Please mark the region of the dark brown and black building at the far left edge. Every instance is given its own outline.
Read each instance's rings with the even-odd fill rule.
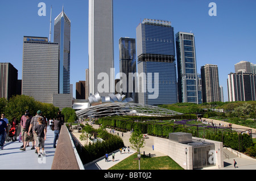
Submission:
[[[18,70],[11,63],[0,63],[0,98],[18,94]]]

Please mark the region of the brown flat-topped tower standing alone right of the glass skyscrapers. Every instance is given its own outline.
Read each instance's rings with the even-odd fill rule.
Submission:
[[[220,102],[221,92],[218,79],[218,66],[206,64],[201,66],[203,102]]]

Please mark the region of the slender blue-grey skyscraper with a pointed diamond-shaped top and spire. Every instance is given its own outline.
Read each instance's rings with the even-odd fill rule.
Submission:
[[[59,94],[70,93],[71,20],[63,10],[54,20],[54,43],[59,44]]]

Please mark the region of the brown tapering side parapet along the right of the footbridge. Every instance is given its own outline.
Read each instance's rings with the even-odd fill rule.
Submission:
[[[61,126],[51,169],[80,170],[66,125]]]

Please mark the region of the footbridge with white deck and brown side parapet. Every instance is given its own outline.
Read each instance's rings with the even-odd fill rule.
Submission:
[[[1,170],[84,170],[84,166],[73,144],[71,134],[63,125],[57,148],[53,148],[54,131],[47,127],[44,150],[46,156],[38,158],[35,150],[30,146],[26,151],[20,150],[22,142],[5,142],[3,150],[0,150]]]

